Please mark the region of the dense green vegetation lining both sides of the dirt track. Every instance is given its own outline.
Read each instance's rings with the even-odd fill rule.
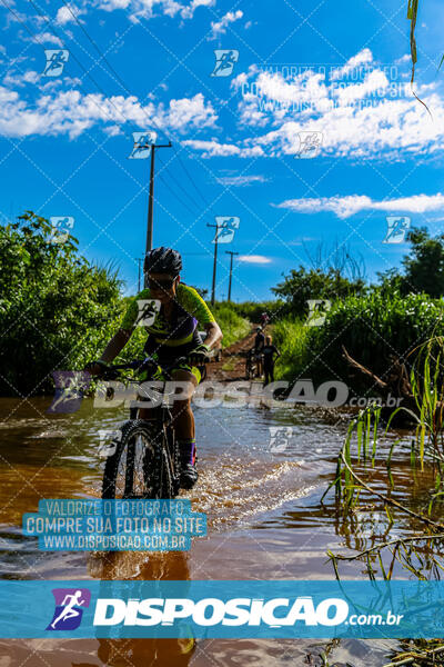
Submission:
[[[41,394],[54,369],[79,369],[97,357],[119,326],[127,298],[115,270],[88,262],[77,240],[52,242],[47,220],[27,212],[0,228],[1,394]],[[367,286],[345,253],[326,265],[300,267],[273,288],[274,301],[216,302],[223,347],[244,337],[263,311],[271,316],[282,352],[276,376],[347,380],[342,346],[376,375],[392,356],[402,360],[432,335],[444,335],[444,237],[425,229],[408,235],[402,270]],[[331,253],[330,253],[331,256]],[[309,299],[329,299],[321,327],[307,327]],[[140,355],[144,332],[135,331],[121,358]]]

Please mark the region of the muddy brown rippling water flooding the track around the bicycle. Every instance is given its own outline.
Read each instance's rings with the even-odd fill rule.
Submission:
[[[333,479],[346,425],[323,421],[303,408],[195,408],[198,486],[188,497],[208,515],[208,536],[193,538],[189,552],[92,555],[41,552],[23,537],[23,512],[41,498],[100,497],[103,460],[98,429],[112,429],[124,409],[94,409],[82,402],[72,415],[48,415],[49,399],[0,399],[0,568],[3,578],[23,579],[332,579],[326,551],[353,554],[372,546],[360,525],[342,521],[333,498],[320,498]],[[331,420],[330,420],[331,421]],[[273,426],[292,426],[282,451],[271,451]],[[377,471],[373,485],[386,489]],[[426,500],[425,480],[412,485],[398,458],[397,492],[417,506]],[[369,507],[369,514],[373,511]],[[364,521],[365,524],[365,521]],[[382,534],[386,527],[383,527]],[[397,530],[400,524],[397,522]],[[411,534],[410,520],[401,530]],[[364,566],[344,564],[344,578],[366,579]],[[403,578],[405,571],[397,573]],[[1,640],[0,667],[149,667],[323,665],[325,641],[62,639]],[[389,663],[390,640],[342,640],[330,665],[380,667]],[[307,655],[312,658],[310,661]]]

